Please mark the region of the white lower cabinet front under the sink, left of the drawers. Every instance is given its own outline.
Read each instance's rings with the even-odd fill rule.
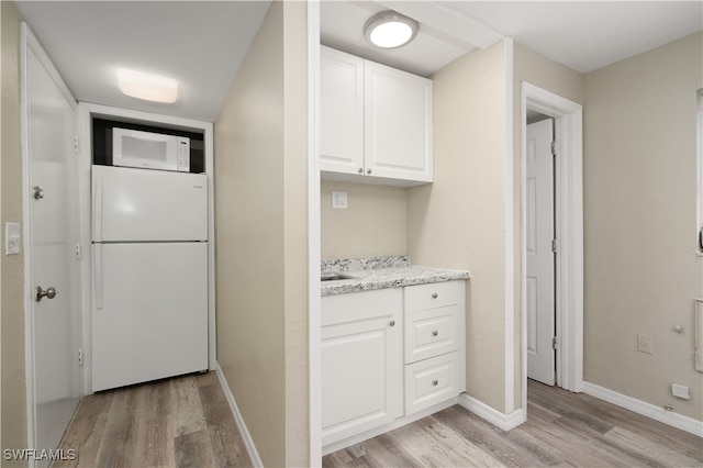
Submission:
[[[402,289],[322,298],[322,444],[403,414]]]

